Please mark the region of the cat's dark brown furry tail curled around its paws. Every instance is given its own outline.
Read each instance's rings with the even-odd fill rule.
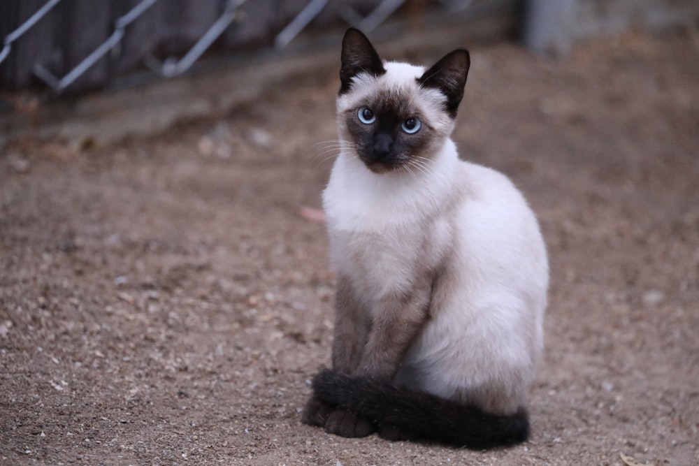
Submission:
[[[370,419],[380,434],[391,439],[487,449],[526,442],[529,437],[524,409],[498,416],[431,393],[331,370],[319,372],[312,386],[317,398]]]

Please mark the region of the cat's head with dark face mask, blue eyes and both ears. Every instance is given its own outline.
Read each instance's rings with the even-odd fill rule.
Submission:
[[[467,50],[430,68],[384,62],[358,29],[343,38],[338,127],[374,173],[431,159],[454,129],[470,66]]]

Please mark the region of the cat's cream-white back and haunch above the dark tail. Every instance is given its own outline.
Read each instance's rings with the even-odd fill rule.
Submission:
[[[460,286],[433,312],[398,377],[445,398],[514,412],[526,405],[543,347],[545,246],[533,213],[504,175],[466,162],[459,172],[473,189],[456,222],[460,247],[452,261],[461,268]],[[472,395],[484,389],[500,395]]]

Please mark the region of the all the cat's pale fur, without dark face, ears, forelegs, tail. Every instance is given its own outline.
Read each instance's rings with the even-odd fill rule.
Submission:
[[[373,173],[352,150],[339,154],[323,194],[333,266],[372,308],[408,289],[418,266],[436,268],[448,254],[453,291],[433,302],[432,318],[396,379],[513,412],[526,405],[543,344],[549,272],[538,223],[507,177],[459,161],[448,138],[452,119],[440,110],[443,96],[415,82],[423,68],[386,68],[380,78],[360,75],[352,92],[338,98],[338,115],[377,89],[403,92],[420,99],[444,142],[428,169],[412,174]],[[346,137],[342,120],[340,137]]]

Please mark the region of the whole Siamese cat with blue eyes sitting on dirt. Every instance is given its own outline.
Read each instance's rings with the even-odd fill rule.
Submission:
[[[313,379],[305,423],[473,449],[528,439],[547,254],[512,182],[449,138],[469,66],[466,50],[427,69],[384,62],[345,33],[323,193],[333,369]]]

